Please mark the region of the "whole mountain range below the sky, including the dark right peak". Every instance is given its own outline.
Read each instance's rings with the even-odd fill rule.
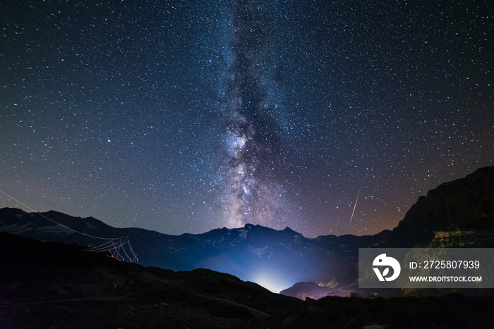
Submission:
[[[173,271],[207,268],[302,299],[348,296],[358,291],[359,248],[494,247],[494,166],[430,190],[418,198],[396,228],[376,235],[307,238],[290,228],[273,230],[251,224],[197,235],[166,235],[140,228],[113,228],[92,217],[10,208],[0,209],[0,232],[93,247],[102,244],[95,237],[115,237],[104,240],[110,243],[128,237],[143,266]]]

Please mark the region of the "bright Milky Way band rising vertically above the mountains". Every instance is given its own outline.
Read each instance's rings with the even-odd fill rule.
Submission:
[[[282,185],[277,182],[282,145],[277,104],[267,85],[274,33],[267,24],[264,1],[238,1],[232,8],[225,123],[227,170],[225,215],[229,226],[255,222],[278,226],[288,213],[283,209]]]

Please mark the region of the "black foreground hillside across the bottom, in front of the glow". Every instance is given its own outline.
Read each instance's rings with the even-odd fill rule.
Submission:
[[[491,328],[494,297],[301,301],[232,275],[174,272],[0,233],[0,328]]]

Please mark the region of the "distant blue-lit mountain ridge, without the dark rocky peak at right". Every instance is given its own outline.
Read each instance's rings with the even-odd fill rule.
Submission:
[[[337,249],[353,244],[346,242],[348,239],[358,239],[352,235],[343,237],[345,241],[340,241],[335,235],[307,238],[291,228],[275,230],[253,224],[246,224],[243,228],[218,228],[198,235],[167,235],[140,228],[112,228],[92,217],[73,218],[57,211],[26,213],[20,209],[0,209],[0,231],[56,242],[95,244],[90,237],[58,229],[56,224],[44,218],[48,216],[88,235],[128,236],[139,263],[144,266],[174,271],[210,268],[231,273],[242,280],[262,282],[272,286],[274,291],[299,280],[326,280],[328,274],[335,272],[334,264],[341,265],[346,258]],[[11,218],[10,221],[7,218]],[[343,254],[357,256],[356,250],[347,250]],[[327,257],[332,261],[323,260]],[[258,273],[253,273],[253,268]],[[286,271],[292,274],[293,279],[284,278]],[[311,271],[314,274],[308,275]],[[266,282],[279,280],[283,282],[278,283],[279,288],[275,283]]]

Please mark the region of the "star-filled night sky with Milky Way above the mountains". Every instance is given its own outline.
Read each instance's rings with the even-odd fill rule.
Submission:
[[[493,54],[491,0],[1,0],[0,207],[392,229],[494,165]]]

